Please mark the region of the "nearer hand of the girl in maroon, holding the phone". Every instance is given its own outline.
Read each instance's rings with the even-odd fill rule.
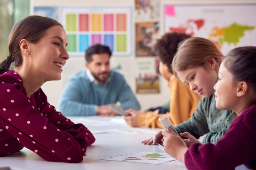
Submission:
[[[184,162],[184,153],[188,149],[186,143],[169,127],[167,131],[163,131],[162,134],[164,151],[173,158],[179,158],[179,161]]]

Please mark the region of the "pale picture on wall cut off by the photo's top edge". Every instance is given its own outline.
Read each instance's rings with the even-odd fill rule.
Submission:
[[[160,0],[134,0],[135,21],[159,21]]]

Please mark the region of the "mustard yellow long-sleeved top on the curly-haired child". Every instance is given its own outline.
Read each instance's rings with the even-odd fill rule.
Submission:
[[[189,85],[185,85],[174,75],[172,75],[170,82],[170,113],[167,113],[168,118],[174,126],[189,119],[194,113],[201,95],[190,90]],[[153,114],[153,112],[140,113],[139,126],[147,126],[151,128],[163,128],[159,122],[159,118],[163,114]]]

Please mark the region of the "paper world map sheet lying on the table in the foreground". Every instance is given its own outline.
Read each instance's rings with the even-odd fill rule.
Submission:
[[[129,153],[126,155],[105,158],[101,160],[134,162],[134,163],[144,163],[144,164],[162,164],[164,162],[174,161],[176,159],[172,158],[167,153],[138,152],[138,153]]]

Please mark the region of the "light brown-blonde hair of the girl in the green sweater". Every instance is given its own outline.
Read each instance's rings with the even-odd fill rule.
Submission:
[[[176,71],[184,71],[188,68],[203,66],[208,59],[214,58],[218,71],[224,55],[211,40],[201,37],[191,37],[180,43],[178,51],[172,61],[172,71],[177,77]]]

